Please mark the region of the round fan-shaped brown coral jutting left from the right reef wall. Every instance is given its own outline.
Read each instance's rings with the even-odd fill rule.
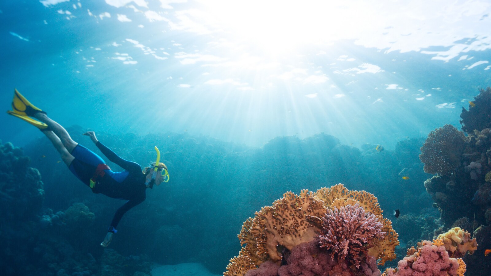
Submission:
[[[424,171],[439,175],[451,173],[461,162],[464,139],[464,133],[452,125],[430,132],[419,155]]]

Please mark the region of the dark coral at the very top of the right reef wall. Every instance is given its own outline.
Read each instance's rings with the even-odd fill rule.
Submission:
[[[491,128],[491,87],[480,89],[473,103],[474,106],[469,107],[469,110],[462,108],[460,122],[466,133]]]

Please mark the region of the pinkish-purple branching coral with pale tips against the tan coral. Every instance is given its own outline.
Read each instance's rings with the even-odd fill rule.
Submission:
[[[356,268],[360,267],[360,255],[366,255],[368,248],[385,234],[377,217],[365,212],[358,203],[328,210],[322,219],[320,247],[326,249],[333,259],[347,259]]]

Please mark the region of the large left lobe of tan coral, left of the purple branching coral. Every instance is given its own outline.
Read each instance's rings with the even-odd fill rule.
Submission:
[[[324,202],[308,190],[300,191],[299,195],[284,193],[272,206],[261,208],[254,218],[244,222],[238,235],[244,247],[239,256],[230,260],[224,275],[241,276],[267,259],[280,261],[282,257],[276,247],[282,245],[291,250],[313,240],[325,213]]]

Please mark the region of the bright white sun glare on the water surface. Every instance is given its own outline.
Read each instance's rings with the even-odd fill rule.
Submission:
[[[370,7],[326,0],[203,1],[209,20],[230,39],[267,54],[350,39],[368,28]]]

